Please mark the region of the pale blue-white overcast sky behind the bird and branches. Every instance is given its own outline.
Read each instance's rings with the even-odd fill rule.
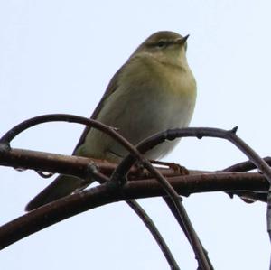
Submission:
[[[203,4],[204,3],[204,4]],[[159,30],[190,34],[197,79],[192,126],[229,129],[270,154],[270,1],[0,1],[0,133],[47,113],[90,116],[109,79],[140,42]],[[46,124],[14,147],[70,154],[82,126]],[[183,139],[166,161],[219,170],[246,160],[221,140]],[[47,185],[35,172],[0,167],[0,222],[23,214]],[[140,200],[182,269],[192,249],[160,199]],[[224,193],[184,200],[216,269],[267,269],[266,205]],[[94,209],[0,252],[1,269],[167,269],[154,239],[125,203]]]

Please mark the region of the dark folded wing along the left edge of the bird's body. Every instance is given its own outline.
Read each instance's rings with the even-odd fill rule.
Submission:
[[[123,67],[124,66],[122,66],[119,70],[117,70],[117,72],[115,73],[113,78],[109,81],[106,92],[104,93],[103,97],[100,99],[98,106],[95,108],[92,116],[90,116],[91,119],[97,119],[98,114],[99,114],[101,108],[103,107],[105,101],[107,100],[107,98],[117,90],[118,77],[119,77],[121,71],[123,70]],[[82,135],[80,136],[79,142],[76,145],[75,149],[73,150],[72,154],[75,154],[75,152],[79,148],[79,146],[81,144],[84,144],[86,136],[88,135],[90,129],[91,129],[91,126],[86,126],[86,128],[84,129]]]

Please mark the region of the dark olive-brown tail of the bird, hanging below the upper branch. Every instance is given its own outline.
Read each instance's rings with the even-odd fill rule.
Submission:
[[[80,188],[82,184],[83,181],[77,177],[59,175],[48,187],[26,205],[25,210],[31,211],[53,200],[70,195],[70,193]]]

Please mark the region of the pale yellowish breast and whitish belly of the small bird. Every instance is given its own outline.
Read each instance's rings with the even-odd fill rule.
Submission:
[[[188,126],[195,98],[196,85],[189,68],[178,69],[145,60],[132,61],[117,78],[117,89],[103,103],[97,120],[117,127],[127,140],[138,144],[155,133]],[[87,135],[85,144],[89,146],[81,147],[82,155],[113,161],[126,155],[123,146],[94,129]],[[155,147],[147,157],[160,158],[175,144],[177,141],[165,142]]]

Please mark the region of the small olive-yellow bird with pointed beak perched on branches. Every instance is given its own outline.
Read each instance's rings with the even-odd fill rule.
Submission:
[[[153,33],[117,70],[91,118],[117,127],[130,143],[189,125],[196,101],[196,81],[187,60],[187,39],[178,33]],[[178,140],[164,142],[145,154],[155,160],[170,153]],[[86,127],[73,155],[119,163],[126,149],[94,128]],[[59,175],[26,206],[36,209],[82,186],[74,176]]]

